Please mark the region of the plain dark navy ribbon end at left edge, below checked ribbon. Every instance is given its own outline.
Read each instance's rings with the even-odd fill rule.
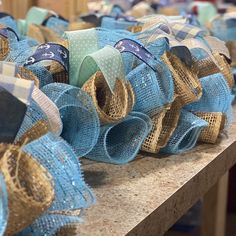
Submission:
[[[0,87],[0,143],[13,143],[24,120],[27,106]]]

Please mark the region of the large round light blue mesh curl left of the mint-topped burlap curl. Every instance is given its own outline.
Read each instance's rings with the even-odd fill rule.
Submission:
[[[84,156],[97,143],[100,131],[99,118],[91,98],[80,88],[52,83],[42,91],[59,109],[62,137],[72,145],[78,156]]]

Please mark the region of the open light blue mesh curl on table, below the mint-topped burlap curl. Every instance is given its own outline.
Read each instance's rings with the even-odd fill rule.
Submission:
[[[112,164],[126,164],[138,154],[152,128],[151,119],[133,113],[123,121],[101,127],[98,143],[87,158]]]

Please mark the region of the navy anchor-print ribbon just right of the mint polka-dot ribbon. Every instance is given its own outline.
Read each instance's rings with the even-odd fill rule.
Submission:
[[[129,52],[135,55],[138,59],[146,63],[154,71],[157,71],[156,66],[158,59],[149,52],[144,46],[131,39],[122,39],[118,41],[115,48],[122,52]]]

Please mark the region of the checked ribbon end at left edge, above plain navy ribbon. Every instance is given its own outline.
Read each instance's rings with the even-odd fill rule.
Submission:
[[[0,87],[7,90],[26,105],[30,104],[34,82],[11,76],[0,76]]]

